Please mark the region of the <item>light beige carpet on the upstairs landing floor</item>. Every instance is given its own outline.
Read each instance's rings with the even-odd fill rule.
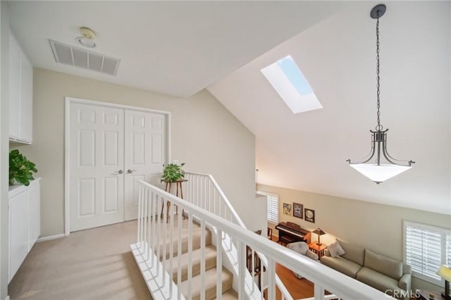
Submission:
[[[152,299],[130,244],[136,221],[36,243],[8,285],[11,299]]]

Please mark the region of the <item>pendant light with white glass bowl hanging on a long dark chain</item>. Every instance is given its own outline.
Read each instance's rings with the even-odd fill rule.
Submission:
[[[361,163],[347,161],[350,166],[359,171],[369,179],[373,180],[377,184],[388,180],[389,178],[396,176],[409,168],[412,168],[414,161],[400,161],[388,154],[387,151],[387,132],[388,129],[383,130],[381,125],[381,111],[380,111],[380,82],[379,82],[379,18],[385,13],[386,7],[384,4],[374,6],[371,10],[370,16],[373,19],[377,19],[376,22],[376,78],[377,78],[377,125],[376,131],[371,132],[371,151],[367,158]],[[376,160],[372,161],[372,158],[376,156]],[[384,161],[382,161],[384,160]]]

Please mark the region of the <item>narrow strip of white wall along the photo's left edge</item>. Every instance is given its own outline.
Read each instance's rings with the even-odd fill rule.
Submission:
[[[8,296],[8,137],[9,20],[8,4],[0,1],[0,299]]]

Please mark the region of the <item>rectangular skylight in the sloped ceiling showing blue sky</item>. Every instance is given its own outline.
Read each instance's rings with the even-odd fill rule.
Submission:
[[[323,108],[291,56],[261,69],[293,113]]]

